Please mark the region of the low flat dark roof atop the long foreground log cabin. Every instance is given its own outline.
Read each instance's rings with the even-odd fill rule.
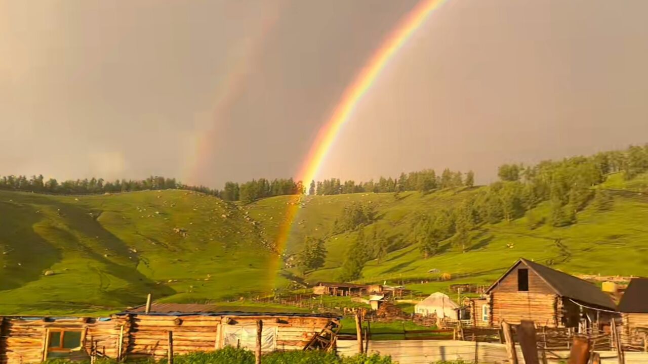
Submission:
[[[187,316],[187,315],[205,315],[205,316],[292,316],[292,317],[325,317],[335,318],[337,315],[330,315],[329,313],[297,313],[297,312],[241,312],[234,310],[226,310],[227,307],[218,306],[216,304],[187,304],[187,303],[153,303],[148,313],[146,312],[146,305],[129,308],[124,312],[117,313],[117,315],[126,314],[146,314],[157,316]],[[255,308],[256,309],[256,308]],[[259,307],[259,310],[263,308]]]

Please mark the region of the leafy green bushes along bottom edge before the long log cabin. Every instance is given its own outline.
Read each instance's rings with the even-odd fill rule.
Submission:
[[[129,361],[130,363],[141,364],[167,364],[167,359],[159,361]],[[66,359],[50,359],[46,364],[87,364],[88,361],[68,361]],[[111,359],[97,359],[97,364],[116,364]],[[323,351],[286,351],[272,352],[265,354],[263,364],[396,364],[391,358],[373,354],[364,354],[352,357],[340,358],[336,354]],[[254,364],[254,353],[246,349],[232,347],[222,348],[213,352],[194,352],[191,354],[178,355],[174,358],[174,364]]]

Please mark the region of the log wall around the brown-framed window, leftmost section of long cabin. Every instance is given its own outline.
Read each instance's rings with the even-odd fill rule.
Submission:
[[[121,327],[128,330],[128,320],[124,317],[113,317],[109,321],[95,319],[23,319],[5,317],[4,350],[0,363],[40,363],[43,350],[46,350],[45,334],[49,330],[70,330],[81,332],[83,345],[90,348],[94,342],[100,352],[106,356],[117,357],[119,333]],[[92,339],[92,341],[91,341]]]

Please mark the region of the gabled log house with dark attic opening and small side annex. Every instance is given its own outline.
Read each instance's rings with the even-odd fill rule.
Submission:
[[[596,285],[524,258],[473,306],[476,326],[484,326],[486,319],[489,326],[530,320],[538,326],[582,331],[618,316],[610,296]]]

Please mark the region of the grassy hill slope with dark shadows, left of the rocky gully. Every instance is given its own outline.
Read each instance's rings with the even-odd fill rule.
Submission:
[[[0,192],[0,222],[2,312],[237,298],[274,255],[236,207],[183,190]]]

